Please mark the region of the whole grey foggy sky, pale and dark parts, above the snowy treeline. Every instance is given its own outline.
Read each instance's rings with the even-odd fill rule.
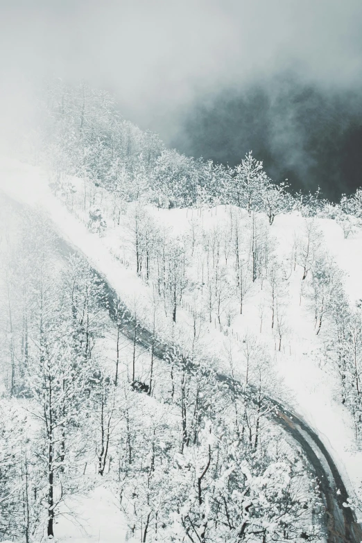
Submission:
[[[28,89],[53,74],[110,90],[124,117],[185,153],[234,163],[254,148],[270,175],[307,187],[325,175],[335,132],[347,155],[323,188],[333,196],[362,178],[348,154],[361,141],[359,0],[0,5],[3,125],[26,117]],[[309,127],[319,142],[329,131],[320,150]]]

